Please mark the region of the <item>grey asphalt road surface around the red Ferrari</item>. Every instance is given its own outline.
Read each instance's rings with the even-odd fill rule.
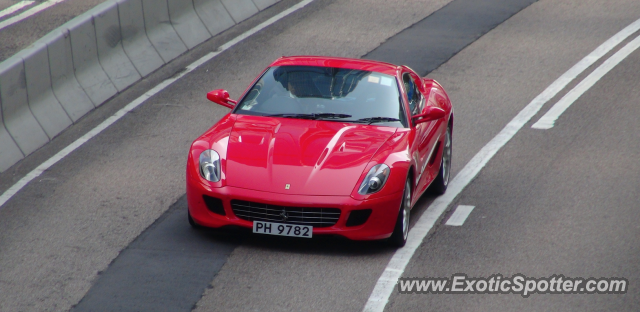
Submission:
[[[295,3],[285,0],[260,13],[104,104],[0,174],[0,191],[149,88]],[[184,204],[186,153],[228,112],[208,102],[206,92],[226,88],[237,97],[281,55],[370,57],[384,42],[402,45],[403,30],[428,24],[438,10],[451,8],[447,4],[316,0],[152,97],[0,207],[0,311],[362,310],[393,249],[376,242],[192,231]],[[428,76],[454,103],[453,175],[555,79],[639,17],[634,0],[540,0],[451,53]],[[420,54],[409,46],[406,53]],[[639,310],[639,60],[640,53],[632,53],[554,128],[531,129],[602,61],[549,101],[451,205],[476,207],[466,222],[444,225],[448,212],[403,274],[615,276],[629,279],[627,294],[394,292],[387,310]],[[431,65],[414,66],[429,71]],[[433,199],[422,198],[413,215]],[[132,272],[147,278],[132,278]]]

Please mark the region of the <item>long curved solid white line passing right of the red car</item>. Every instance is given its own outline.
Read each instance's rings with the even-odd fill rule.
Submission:
[[[409,231],[407,244],[398,249],[371,292],[371,296],[364,306],[365,312],[382,312],[389,301],[391,293],[395,289],[398,278],[404,272],[411,257],[424,238],[427,236],[433,225],[446,211],[458,194],[475,178],[480,170],[491,160],[491,158],[502,148],[511,138],[527,123],[540,108],[552,99],[558,92],[567,86],[585,69],[595,63],[608,51],[622,42],[625,38],[636,32],[640,28],[640,19],[618,32],[615,36],[605,41],[589,55],[576,63],[567,72],[562,74],[556,81],[549,85],[542,93],[536,96],[531,103],[523,108],[489,143],[487,143],[473,158],[462,168],[456,177],[449,183],[447,192],[436,198],[427,210],[422,214],[418,222]],[[635,30],[634,30],[635,29]]]

